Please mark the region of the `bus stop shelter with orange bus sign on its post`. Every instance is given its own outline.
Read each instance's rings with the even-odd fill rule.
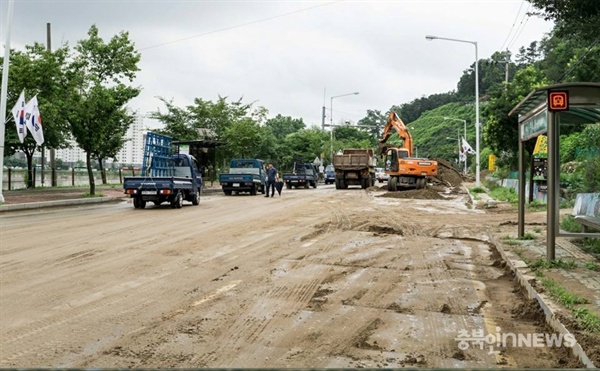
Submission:
[[[568,233],[560,223],[560,127],[600,122],[600,84],[566,83],[533,90],[509,113],[519,115],[519,223],[518,236],[525,234],[525,172],[523,143],[547,135],[546,258],[555,259],[557,237],[596,237],[600,233]],[[600,144],[599,144],[600,145]],[[533,176],[533,174],[531,174]]]

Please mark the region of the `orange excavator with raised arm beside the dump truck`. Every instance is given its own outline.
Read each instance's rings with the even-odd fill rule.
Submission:
[[[386,144],[393,131],[402,139],[402,147]],[[399,188],[425,188],[428,178],[437,175],[437,161],[412,157],[412,136],[396,112],[390,112],[379,140],[379,153],[385,156],[385,173],[390,176],[388,191]]]

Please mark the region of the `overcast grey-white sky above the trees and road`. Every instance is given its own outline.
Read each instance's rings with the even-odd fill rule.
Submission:
[[[157,96],[186,106],[220,95],[320,126],[338,95],[359,92],[333,99],[336,123],[456,89],[474,46],[425,35],[477,41],[480,58],[516,53],[552,28],[528,9],[524,0],[16,0],[11,48],[45,43],[47,23],[55,48],[92,24],[105,41],[127,31],[142,54],[143,91],[131,102],[141,114],[164,110]]]

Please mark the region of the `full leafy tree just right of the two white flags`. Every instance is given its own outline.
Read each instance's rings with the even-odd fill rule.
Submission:
[[[86,152],[90,195],[95,195],[92,159],[110,155],[118,143],[106,138],[124,133],[132,122],[133,113],[125,105],[139,95],[140,89],[126,83],[132,82],[139,71],[140,53],[127,32],[105,43],[95,25],[75,50],[70,66],[75,87],[70,92],[67,117],[77,144]]]

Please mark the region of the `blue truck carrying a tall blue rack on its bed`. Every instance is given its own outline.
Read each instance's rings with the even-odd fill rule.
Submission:
[[[133,207],[144,209],[148,202],[168,202],[180,209],[183,201],[200,204],[202,177],[196,159],[189,154],[171,154],[171,138],[146,134],[142,175],[123,178],[125,194],[133,199]]]

